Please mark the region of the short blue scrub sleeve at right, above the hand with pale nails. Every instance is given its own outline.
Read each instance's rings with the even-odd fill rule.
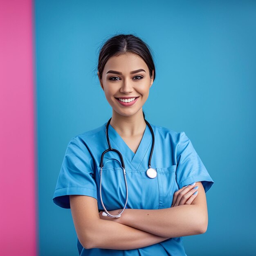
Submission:
[[[177,145],[176,180],[179,189],[193,182],[201,181],[205,193],[214,183],[185,132],[180,132]]]

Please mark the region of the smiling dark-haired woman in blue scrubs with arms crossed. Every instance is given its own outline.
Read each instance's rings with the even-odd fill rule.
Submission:
[[[70,140],[53,197],[71,208],[79,254],[186,255],[182,236],[207,230],[205,193],[213,180],[184,132],[145,120],[155,80],[150,48],[131,34],[113,36],[101,48],[98,76],[112,117]],[[103,155],[101,170],[106,128],[125,176],[115,151]]]

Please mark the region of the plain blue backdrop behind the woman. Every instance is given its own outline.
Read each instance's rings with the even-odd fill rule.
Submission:
[[[52,196],[67,143],[111,117],[95,68],[115,33],[152,47],[146,119],[186,132],[215,182],[207,232],[184,237],[186,253],[255,254],[256,2],[36,0],[40,255],[78,255]]]

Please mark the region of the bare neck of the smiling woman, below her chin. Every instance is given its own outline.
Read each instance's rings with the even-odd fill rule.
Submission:
[[[122,136],[132,137],[140,135],[146,129],[146,122],[143,117],[142,108],[129,117],[120,115],[116,111],[112,111],[111,126]]]

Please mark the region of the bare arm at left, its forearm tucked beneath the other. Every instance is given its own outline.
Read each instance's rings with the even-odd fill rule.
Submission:
[[[70,208],[76,234],[87,249],[137,249],[168,239],[118,223],[118,218],[101,220],[97,200],[90,196],[70,195]]]

